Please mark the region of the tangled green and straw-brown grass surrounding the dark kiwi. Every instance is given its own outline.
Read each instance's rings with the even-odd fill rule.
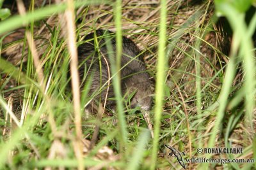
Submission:
[[[37,7],[36,2],[31,1],[26,14],[0,22],[0,169],[182,169],[165,144],[186,153],[183,159],[256,159],[256,15],[245,22],[246,3],[69,1]],[[65,18],[72,10],[76,18]],[[232,38],[218,27],[214,14],[227,18]],[[25,31],[14,34],[19,27]],[[116,113],[84,114],[92,82],[85,82],[79,93],[74,41],[81,43],[95,29],[116,32],[117,59],[122,35],[140,47],[154,89],[154,139],[143,114],[123,102],[120,60],[112,61],[110,70],[115,74]],[[228,55],[223,46],[230,46]],[[197,153],[198,147],[238,147],[243,153]],[[186,162],[187,169],[255,166]]]

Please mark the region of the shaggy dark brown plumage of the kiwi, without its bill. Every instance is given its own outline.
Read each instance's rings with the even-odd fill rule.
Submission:
[[[95,42],[97,38],[97,43]],[[90,94],[100,89],[100,76],[101,76],[101,86],[103,86],[112,74],[108,74],[108,70],[111,73],[111,60],[115,62],[116,60],[116,41],[115,33],[104,30],[97,30],[88,34],[85,39],[85,43],[78,46],[78,56],[79,56],[79,76],[81,79],[81,88],[83,89],[84,82],[88,80],[90,75],[92,78],[92,86]],[[107,43],[110,41],[113,53],[112,55],[108,52]],[[99,48],[97,48],[99,46]],[[106,59],[106,60],[105,60]],[[101,65],[101,67],[100,67]],[[148,110],[151,105],[152,93],[150,89],[150,80],[148,73],[146,72],[145,62],[143,57],[140,55],[140,50],[131,39],[122,38],[122,58],[121,58],[121,89],[122,94],[131,93],[136,91],[132,97],[131,106],[141,106],[141,108]],[[101,70],[101,71],[100,71]],[[101,73],[101,74],[100,74]],[[87,76],[84,76],[87,75]],[[83,77],[86,77],[83,81]],[[110,81],[111,83],[111,81]],[[108,83],[102,88],[100,95],[95,97],[101,101],[106,98],[106,87]],[[108,90],[108,98],[115,97],[112,85],[110,85]],[[115,105],[115,100],[108,100],[107,105],[109,107]]]

